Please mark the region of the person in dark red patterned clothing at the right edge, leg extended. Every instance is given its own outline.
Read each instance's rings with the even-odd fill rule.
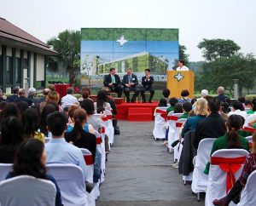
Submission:
[[[240,178],[236,180],[235,185],[230,189],[230,192],[220,199],[213,201],[214,205],[228,206],[231,201],[234,203],[240,202],[240,194],[242,188],[247,184],[248,176],[256,169],[256,132],[253,133],[253,151],[247,155],[247,159],[243,165]]]

